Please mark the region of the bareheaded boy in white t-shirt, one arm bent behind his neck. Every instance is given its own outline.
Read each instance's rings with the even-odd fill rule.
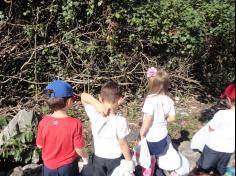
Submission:
[[[81,95],[81,100],[89,116],[94,139],[93,176],[111,176],[120,165],[122,154],[127,171],[133,172],[126,139],[130,130],[127,120],[117,112],[122,102],[119,85],[113,81],[107,82],[101,89],[99,101],[87,93]]]

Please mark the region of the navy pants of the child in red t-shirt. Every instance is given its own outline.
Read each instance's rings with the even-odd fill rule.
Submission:
[[[79,176],[78,161],[64,165],[58,169],[51,170],[46,166],[43,167],[43,176]]]

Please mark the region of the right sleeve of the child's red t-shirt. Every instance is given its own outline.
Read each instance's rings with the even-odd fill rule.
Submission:
[[[84,146],[85,142],[84,142],[83,126],[80,120],[78,120],[74,132],[74,148],[82,149],[84,148]]]

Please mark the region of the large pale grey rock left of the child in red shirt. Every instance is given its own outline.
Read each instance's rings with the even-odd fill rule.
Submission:
[[[38,123],[38,120],[32,111],[21,110],[0,133],[0,146],[4,141],[24,132],[25,129]]]

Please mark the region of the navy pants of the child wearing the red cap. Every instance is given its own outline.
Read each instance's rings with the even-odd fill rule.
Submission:
[[[230,153],[216,152],[205,146],[197,165],[199,170],[214,171],[216,174],[224,175],[231,155]]]

